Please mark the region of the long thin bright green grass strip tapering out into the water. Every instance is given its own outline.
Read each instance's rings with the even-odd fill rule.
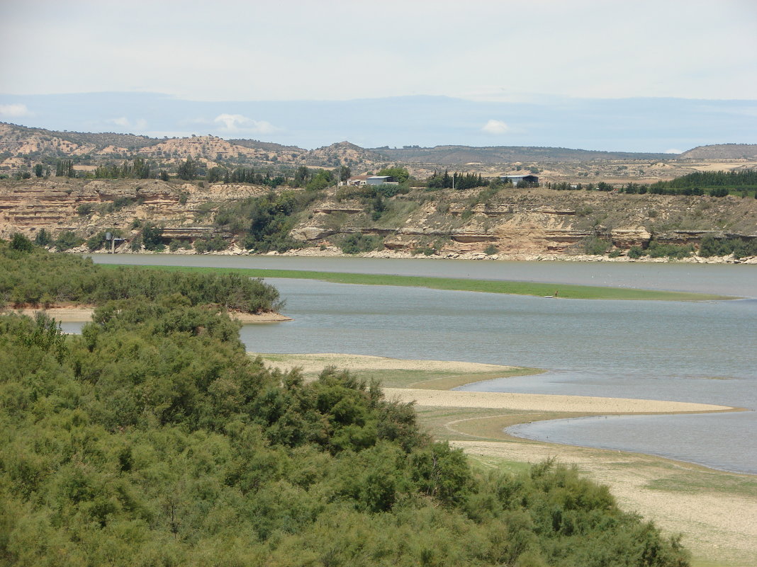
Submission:
[[[110,268],[117,265],[100,264]],[[128,266],[123,266],[128,267]],[[321,280],[331,283],[351,283],[367,286],[428,287],[432,290],[478,291],[511,293],[519,296],[551,296],[558,291],[563,299],[643,299],[646,301],[711,301],[737,299],[732,296],[685,293],[677,291],[637,290],[625,287],[578,286],[566,283],[537,283],[529,281],[470,280],[462,277],[400,276],[390,274],[350,274],[330,271],[266,270],[259,268],[210,268],[199,266],[154,266],[139,268],[182,270],[216,273],[235,273],[249,277],[286,277],[298,280]]]

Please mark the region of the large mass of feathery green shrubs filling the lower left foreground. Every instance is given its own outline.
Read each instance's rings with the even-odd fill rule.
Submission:
[[[575,469],[472,469],[376,383],[268,370],[150,295],[80,336],[0,316],[0,565],[688,565]]]

